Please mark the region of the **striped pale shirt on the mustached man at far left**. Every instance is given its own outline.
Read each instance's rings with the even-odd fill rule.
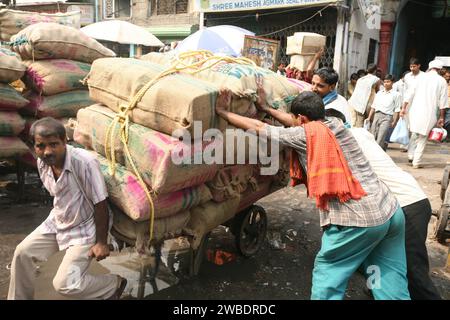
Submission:
[[[108,197],[97,159],[86,150],[67,145],[64,167],[57,181],[52,168],[40,159],[38,170],[42,183],[54,197],[53,209],[39,226],[39,231],[42,234],[56,234],[60,250],[72,245],[94,244],[96,230],[93,205]]]

